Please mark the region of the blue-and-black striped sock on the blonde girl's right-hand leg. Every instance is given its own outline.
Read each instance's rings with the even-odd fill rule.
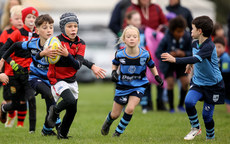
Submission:
[[[120,123],[118,124],[118,126],[116,128],[116,132],[118,132],[120,134],[124,133],[124,130],[128,126],[132,116],[133,115],[129,115],[129,114],[124,112],[124,115],[121,118]]]

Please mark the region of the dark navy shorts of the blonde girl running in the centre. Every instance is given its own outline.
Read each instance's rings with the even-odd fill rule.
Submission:
[[[116,103],[118,103],[118,104],[120,104],[120,105],[126,105],[127,103],[128,103],[128,101],[129,101],[129,96],[136,96],[136,97],[138,97],[138,98],[142,98],[143,96],[144,96],[144,94],[142,94],[142,93],[137,93],[136,91],[134,91],[134,92],[132,92],[132,93],[130,93],[130,94],[128,94],[128,95],[124,95],[124,96],[115,96],[114,97],[114,101],[116,102]]]

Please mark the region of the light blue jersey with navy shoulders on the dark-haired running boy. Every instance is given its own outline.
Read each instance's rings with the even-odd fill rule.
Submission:
[[[193,82],[198,86],[212,86],[223,78],[218,66],[218,58],[215,44],[211,38],[205,40],[200,46],[198,41],[192,45],[193,56],[199,59],[194,64]]]

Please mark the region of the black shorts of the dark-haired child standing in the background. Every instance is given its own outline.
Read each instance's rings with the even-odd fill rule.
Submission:
[[[185,73],[186,64],[169,64],[169,68],[166,73],[164,73],[165,78],[173,77],[174,72],[176,73],[176,78],[180,78],[182,76],[187,76]]]

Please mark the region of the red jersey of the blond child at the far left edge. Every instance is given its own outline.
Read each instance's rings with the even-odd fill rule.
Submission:
[[[0,36],[0,49],[6,43],[7,39],[11,35],[11,33],[14,32],[15,30],[17,30],[17,28],[12,26],[10,29],[4,30],[2,32],[2,34]],[[12,53],[10,56],[13,57],[14,53]],[[14,75],[11,66],[7,62],[4,63],[4,73],[6,75],[8,75],[8,76],[13,76]]]

